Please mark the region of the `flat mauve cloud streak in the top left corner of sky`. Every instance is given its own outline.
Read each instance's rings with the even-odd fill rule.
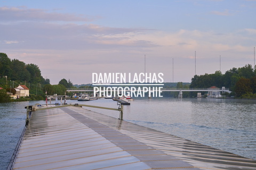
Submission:
[[[0,21],[92,21],[94,17],[27,7],[0,7]]]

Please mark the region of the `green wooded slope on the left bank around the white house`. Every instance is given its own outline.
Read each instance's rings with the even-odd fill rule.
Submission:
[[[51,85],[50,79],[44,79],[36,64],[26,64],[17,59],[11,60],[5,53],[0,53],[0,103],[11,101],[6,92],[15,92],[13,88],[25,84],[29,88],[28,99],[42,100],[45,95],[65,95],[66,88],[73,88],[70,80],[61,79]],[[27,99],[27,100],[28,100]]]

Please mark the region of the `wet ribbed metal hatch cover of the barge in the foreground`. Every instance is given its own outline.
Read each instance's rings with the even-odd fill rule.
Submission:
[[[13,169],[256,169],[256,161],[80,107],[36,111]]]

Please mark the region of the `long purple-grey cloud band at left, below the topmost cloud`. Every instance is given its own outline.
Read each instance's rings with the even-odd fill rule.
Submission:
[[[149,31],[141,28],[110,28],[95,24],[75,23],[20,22],[0,23],[0,31],[2,32],[1,39],[6,40],[8,44],[24,42],[12,48],[87,50],[156,46],[151,41],[136,38],[137,35]],[[12,41],[13,39],[15,41]]]

